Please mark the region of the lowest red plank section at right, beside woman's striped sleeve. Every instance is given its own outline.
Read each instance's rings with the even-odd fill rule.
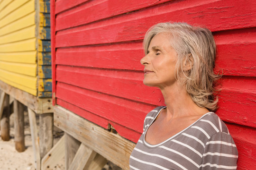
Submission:
[[[238,148],[238,170],[256,170],[256,129],[226,124]]]

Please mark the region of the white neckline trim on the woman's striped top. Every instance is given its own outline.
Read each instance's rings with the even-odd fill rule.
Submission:
[[[146,144],[146,146],[148,146],[148,147],[157,147],[157,146],[160,146],[160,145],[162,145],[162,144],[168,142],[169,140],[173,139],[175,136],[178,136],[179,134],[183,133],[183,132],[184,132],[186,129],[188,129],[189,127],[192,127],[195,123],[197,123],[197,122],[198,122],[200,119],[202,119],[204,116],[206,116],[206,115],[208,115],[208,114],[210,114],[210,113],[214,113],[214,112],[211,112],[211,111],[205,113],[204,115],[201,116],[201,118],[197,119],[197,120],[196,120],[194,123],[192,123],[190,126],[184,128],[182,131],[176,133],[174,136],[169,137],[168,139],[166,139],[165,141],[163,141],[163,142],[161,142],[161,143],[159,143],[159,144],[149,144],[149,143],[146,142],[146,139],[145,139],[145,138],[146,138],[147,129],[153,124],[153,122],[155,121],[156,117],[157,117],[158,114],[161,112],[161,110],[162,110],[162,109],[165,109],[165,108],[166,108],[166,106],[164,106],[163,108],[161,108],[161,109],[157,112],[157,114],[155,115],[155,118],[151,121],[150,125],[146,128],[146,131],[145,131],[144,136],[143,136],[143,143]]]

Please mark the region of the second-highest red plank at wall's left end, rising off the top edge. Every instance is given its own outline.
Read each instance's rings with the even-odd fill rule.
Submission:
[[[171,0],[92,0],[56,16],[56,30],[71,28]],[[61,5],[63,4],[56,4]],[[72,6],[73,7],[73,6]],[[68,9],[65,7],[65,9]],[[57,10],[57,9],[56,9]],[[100,12],[99,12],[100,11]],[[83,16],[83,17],[81,17]],[[75,21],[75,22],[73,22]]]

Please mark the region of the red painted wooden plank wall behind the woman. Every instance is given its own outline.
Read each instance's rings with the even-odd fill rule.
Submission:
[[[147,112],[164,105],[142,82],[146,31],[168,21],[208,27],[224,70],[217,114],[238,169],[256,169],[255,0],[51,0],[51,15],[54,104],[134,142]]]

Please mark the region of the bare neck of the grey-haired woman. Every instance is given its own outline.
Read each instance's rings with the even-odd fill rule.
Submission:
[[[190,94],[178,83],[160,90],[165,98],[166,119],[203,115],[209,112],[206,108],[201,108],[193,102]]]

